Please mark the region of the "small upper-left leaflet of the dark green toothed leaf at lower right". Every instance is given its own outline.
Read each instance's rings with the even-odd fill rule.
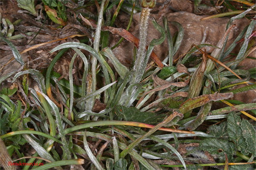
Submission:
[[[228,139],[227,134],[227,122],[223,122],[220,125],[212,125],[208,129],[208,133],[218,139]]]

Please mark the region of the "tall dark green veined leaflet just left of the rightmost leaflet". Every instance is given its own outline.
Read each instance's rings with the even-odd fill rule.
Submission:
[[[235,112],[229,113],[227,116],[227,133],[229,135],[229,139],[236,144],[237,149],[241,150],[242,154],[248,155],[248,145],[242,136],[242,131],[240,117],[237,116]]]

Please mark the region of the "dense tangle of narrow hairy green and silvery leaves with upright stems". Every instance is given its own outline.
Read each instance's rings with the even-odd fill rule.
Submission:
[[[91,2],[84,1],[77,4],[70,2],[71,5],[61,1],[45,3],[58,12],[70,8],[71,5],[76,6],[77,11],[92,5]],[[124,7],[135,8],[135,4],[131,6],[123,1],[99,3],[96,1],[99,12],[93,43],[89,43],[89,39],[83,39],[53,48],[50,52],[58,51],[58,54],[46,74],[25,68],[0,78],[2,83],[15,74],[12,81],[19,84],[18,88],[3,88],[0,94],[1,139],[6,145],[9,157],[18,156],[18,161],[22,163],[36,161],[37,164],[44,164],[33,165],[35,169],[61,169],[61,166],[70,164],[81,164],[86,169],[115,170],[154,170],[165,167],[189,169],[191,166],[222,169],[222,165],[226,169],[228,166],[230,169],[255,168],[256,131],[251,122],[255,121],[256,105],[228,99],[233,94],[256,88],[255,83],[250,82],[251,78],[255,79],[255,69],[246,71],[237,68],[255,48],[250,45],[252,39],[249,37],[253,36],[256,21],[251,20],[250,25],[241,31],[226,51],[224,50],[233,20],[244,17],[249,9],[230,19],[226,33],[218,42],[218,48],[211,54],[201,51],[200,48],[212,45],[201,44],[192,48],[179,63],[174,63],[173,56],[183,39],[183,27],[179,23],[171,23],[179,30],[177,37],[174,37],[166,17],[163,17],[163,26],[153,19],[152,22],[161,36],[158,40],[152,40],[146,49],[148,16],[155,1],[143,0],[139,49],[134,67],[126,68],[116,59],[111,48],[107,47],[109,32],[102,33],[102,27],[108,23],[104,20],[107,9],[119,4],[110,22],[113,26],[119,10]],[[61,16],[65,17],[60,13],[58,17]],[[95,19],[95,16],[91,15],[91,18]],[[224,65],[224,58],[243,36],[244,42],[236,59]],[[163,43],[166,38],[169,51],[163,60],[166,67],[161,71],[160,68],[154,67],[146,70],[154,46]],[[10,46],[16,61],[24,67],[25,62],[12,42],[5,37],[1,37],[1,40]],[[68,49],[72,49],[75,54],[70,61],[69,80],[66,80],[61,79],[52,68]],[[84,54],[82,50],[88,53]],[[203,60],[199,66],[186,68],[183,64],[186,64],[192,52],[197,50],[203,53]],[[73,64],[77,57],[81,57],[83,62],[80,86],[73,85]],[[106,57],[113,63],[116,74],[106,62]],[[216,65],[220,66],[216,68]],[[29,79],[37,82],[36,87],[27,85],[28,75]],[[52,92],[51,84],[55,85],[55,92]],[[246,86],[231,89],[239,84]],[[13,98],[17,89],[22,94],[19,100]],[[149,100],[151,97],[154,97],[153,101]],[[101,111],[93,110],[93,105],[97,105],[94,104],[96,100],[104,105]],[[213,102],[224,102],[230,106],[213,110]],[[191,114],[193,112],[197,112],[197,115]],[[248,118],[241,119],[241,113]],[[203,130],[198,128],[202,127],[204,122],[210,125],[207,133],[206,127]],[[36,151],[29,159],[20,149],[24,145],[29,146],[28,144]],[[186,150],[185,155],[177,151],[178,147]],[[209,160],[201,150],[209,152],[216,159]],[[168,165],[159,163],[156,159]],[[244,161],[247,161],[247,164],[244,164]],[[1,163],[3,166],[8,164],[6,161]],[[31,166],[27,164],[23,169],[29,169]]]

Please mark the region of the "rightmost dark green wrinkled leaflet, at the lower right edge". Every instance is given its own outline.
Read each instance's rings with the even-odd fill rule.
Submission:
[[[256,156],[256,130],[253,128],[247,120],[243,119],[241,122],[241,128],[243,130],[242,135],[248,145],[247,151]]]

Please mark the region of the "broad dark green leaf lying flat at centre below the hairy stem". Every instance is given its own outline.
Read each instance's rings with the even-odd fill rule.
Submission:
[[[161,122],[165,117],[163,114],[157,115],[156,113],[152,112],[140,112],[140,110],[135,107],[126,108],[125,106],[116,106],[115,113],[117,116],[125,119],[125,121],[148,124]]]

